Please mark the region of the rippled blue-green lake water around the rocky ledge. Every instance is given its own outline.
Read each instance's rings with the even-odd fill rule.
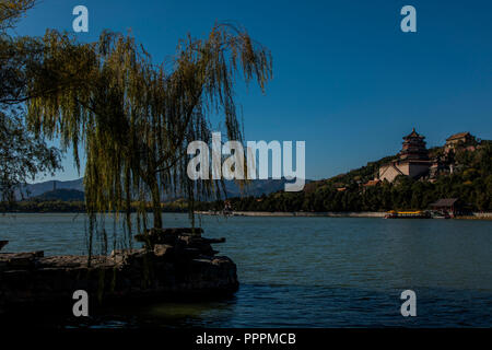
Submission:
[[[214,247],[237,264],[234,298],[118,310],[90,326],[492,326],[492,221],[201,220],[204,236],[226,237]],[[164,223],[189,225],[186,214],[166,213]],[[83,254],[84,215],[2,215],[0,238],[11,241],[8,252]],[[417,317],[400,314],[408,289],[417,293]]]

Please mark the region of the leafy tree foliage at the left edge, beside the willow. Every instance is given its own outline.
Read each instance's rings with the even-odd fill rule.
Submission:
[[[23,185],[37,174],[60,168],[58,150],[30,132],[24,121],[21,96],[26,88],[25,73],[39,46],[8,33],[33,5],[34,0],[0,2],[0,201],[4,202],[23,195]]]

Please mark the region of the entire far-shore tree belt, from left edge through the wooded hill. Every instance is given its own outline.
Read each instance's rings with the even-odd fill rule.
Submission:
[[[430,152],[442,152],[441,148]],[[274,215],[382,215],[389,210],[426,210],[440,198],[459,198],[462,217],[483,217],[492,212],[492,141],[482,140],[476,151],[457,149],[453,174],[440,175],[433,182],[398,176],[393,183],[383,180],[377,186],[364,186],[382,164],[391,156],[329,179],[312,182],[303,191],[276,191],[262,196],[243,196],[211,201],[196,201],[197,212],[222,212],[225,207],[234,212],[277,213]],[[2,203],[9,212],[84,212],[84,200],[46,200],[42,196],[28,200]],[[131,203],[132,210],[140,208]],[[151,210],[151,205],[148,206]],[[161,203],[164,212],[186,212],[188,200],[176,199]],[[282,213],[282,214],[280,214]],[[263,215],[263,214],[261,214]],[[325,214],[326,215],[326,214]]]

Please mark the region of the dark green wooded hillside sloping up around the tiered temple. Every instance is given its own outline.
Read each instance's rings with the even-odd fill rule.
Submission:
[[[442,153],[442,148],[430,150]],[[236,211],[384,211],[426,209],[440,198],[460,198],[469,210],[492,210],[492,141],[481,141],[475,151],[458,149],[453,174],[440,175],[434,182],[399,176],[394,183],[363,186],[377,170],[395,156],[329,179],[313,182],[301,192],[278,191],[259,198],[233,198]],[[201,209],[223,208],[222,201],[202,203]]]

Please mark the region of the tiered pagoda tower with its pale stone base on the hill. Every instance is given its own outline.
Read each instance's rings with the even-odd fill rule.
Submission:
[[[424,139],[413,128],[410,135],[403,137],[398,159],[379,167],[378,179],[391,183],[399,175],[419,178],[429,174],[432,162],[429,160]]]

